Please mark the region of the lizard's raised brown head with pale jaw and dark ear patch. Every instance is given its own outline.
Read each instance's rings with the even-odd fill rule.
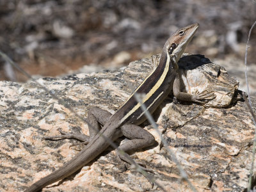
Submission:
[[[180,56],[186,49],[186,45],[195,35],[196,29],[199,27],[198,23],[191,24],[185,28],[176,31],[164,44],[164,51],[168,54],[174,63],[180,59]]]

